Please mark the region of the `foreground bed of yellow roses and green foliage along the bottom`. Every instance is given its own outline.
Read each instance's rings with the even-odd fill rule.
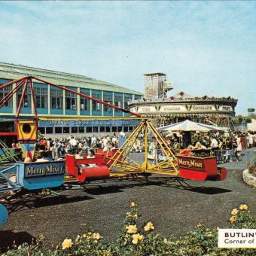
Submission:
[[[180,239],[163,238],[154,233],[154,224],[139,227],[137,224],[139,209],[131,203],[130,212],[126,213],[123,230],[116,242],[104,242],[99,233],[87,232],[77,238],[65,239],[56,248],[47,248],[44,237],[35,244],[23,244],[5,253],[5,255],[253,255],[254,249],[218,248],[218,227],[210,229],[198,224]],[[231,212],[232,228],[256,228],[256,221],[251,216],[248,206],[240,205]]]

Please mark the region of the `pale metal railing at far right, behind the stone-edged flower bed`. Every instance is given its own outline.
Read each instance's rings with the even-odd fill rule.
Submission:
[[[246,167],[256,157],[254,151],[236,151],[236,149],[214,151],[213,155],[217,157],[218,165],[233,167]]]

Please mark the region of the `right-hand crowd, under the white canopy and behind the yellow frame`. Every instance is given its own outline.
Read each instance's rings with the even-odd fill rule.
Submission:
[[[167,145],[178,154],[184,149],[190,149],[191,155],[197,157],[216,156],[219,163],[239,161],[242,150],[256,146],[256,133],[218,131],[210,133],[199,132],[167,132],[163,133]],[[162,152],[156,139],[148,143],[148,153],[153,159],[161,158]],[[143,138],[136,139],[133,151],[144,150]]]

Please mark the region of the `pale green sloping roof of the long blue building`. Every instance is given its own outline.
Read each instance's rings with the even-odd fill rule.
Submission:
[[[116,84],[111,84],[105,81],[100,81],[95,78],[89,78],[85,75],[75,75],[66,72],[58,72],[48,69],[38,69],[28,66],[15,65],[5,62],[0,62],[0,78],[15,80],[23,76],[35,76],[53,84],[69,87],[81,87],[93,90],[107,90],[118,93],[131,93],[142,95],[135,90],[130,90],[125,87],[120,87]],[[40,83],[40,82],[38,82]]]

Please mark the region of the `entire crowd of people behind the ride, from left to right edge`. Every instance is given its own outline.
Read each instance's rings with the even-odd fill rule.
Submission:
[[[218,131],[211,133],[199,132],[167,132],[162,133],[175,153],[188,148],[195,155],[200,156],[215,155],[219,161],[238,161],[241,151],[245,148],[256,146],[256,133],[240,133],[231,131]],[[151,134],[148,134],[148,154],[154,158],[159,157],[160,145]],[[35,159],[38,161],[58,160],[65,157],[65,154],[75,154],[77,158],[84,157],[84,154],[94,156],[94,149],[102,148],[103,151],[112,151],[120,148],[126,140],[126,134],[113,133],[111,136],[88,136],[78,139],[69,136],[62,139],[41,138],[38,140]],[[17,145],[13,145],[17,148]],[[143,134],[138,138],[131,149],[133,152],[145,151]]]

